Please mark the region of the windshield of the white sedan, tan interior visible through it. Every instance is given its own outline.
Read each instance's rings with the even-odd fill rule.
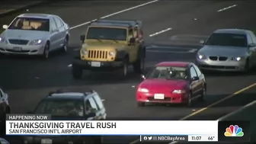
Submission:
[[[49,31],[50,21],[45,18],[16,18],[8,29]]]

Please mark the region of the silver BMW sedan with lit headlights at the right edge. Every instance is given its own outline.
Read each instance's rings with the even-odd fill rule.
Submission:
[[[256,37],[251,30],[219,29],[198,51],[200,69],[249,71],[256,64]]]

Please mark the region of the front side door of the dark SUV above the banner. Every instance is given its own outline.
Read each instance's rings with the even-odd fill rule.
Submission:
[[[92,97],[85,99],[85,114],[94,113],[95,117],[88,117],[88,120],[98,120],[98,107]]]

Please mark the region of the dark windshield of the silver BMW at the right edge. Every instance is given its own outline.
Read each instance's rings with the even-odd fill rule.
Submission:
[[[211,46],[248,46],[247,37],[245,34],[212,34],[206,45]]]

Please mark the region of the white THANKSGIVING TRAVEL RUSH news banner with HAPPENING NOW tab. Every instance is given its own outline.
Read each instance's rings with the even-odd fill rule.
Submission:
[[[216,120],[51,120],[47,114],[8,114],[8,136],[138,136],[141,142],[217,142]]]

